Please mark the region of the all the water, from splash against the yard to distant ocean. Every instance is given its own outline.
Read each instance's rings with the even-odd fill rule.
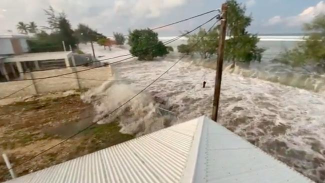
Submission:
[[[274,40],[273,40],[274,38]],[[281,40],[278,40],[280,39]],[[288,38],[288,40],[282,40]],[[299,37],[295,37],[299,39]],[[272,40],[270,40],[272,39]],[[300,40],[267,37],[260,63],[225,66],[218,122],[316,182],[325,181],[325,94],[322,76],[271,60]],[[186,42],[174,42],[172,46]],[[116,50],[120,51],[120,50]],[[112,65],[114,78],[83,98],[97,118],[112,111],[157,78],[177,59],[174,52],[154,61],[135,59]],[[120,121],[121,131],[146,134],[212,110],[215,64],[187,56],[144,92],[100,122]],[[277,78],[277,79],[275,79]],[[202,88],[202,82],[206,87]],[[296,85],[299,83],[300,85]],[[170,112],[163,113],[159,108]]]

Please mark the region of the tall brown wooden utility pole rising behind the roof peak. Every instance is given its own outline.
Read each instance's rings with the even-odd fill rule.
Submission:
[[[218,45],[218,58],[216,63],[216,74],[214,84],[214,99],[212,108],[212,120],[216,121],[218,116],[219,98],[220,98],[220,87],[222,77],[222,65],[223,65],[223,52],[224,52],[224,41],[227,27],[227,4],[223,3],[221,7],[221,24],[220,24],[220,39]]]

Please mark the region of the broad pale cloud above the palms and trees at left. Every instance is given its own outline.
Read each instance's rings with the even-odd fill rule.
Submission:
[[[167,15],[170,10],[186,1],[188,0],[0,0],[0,31],[15,30],[18,21],[35,21],[38,26],[46,25],[43,9],[51,5],[56,11],[64,11],[73,27],[81,22],[105,34],[117,26],[126,32],[129,27],[152,25],[152,18]]]

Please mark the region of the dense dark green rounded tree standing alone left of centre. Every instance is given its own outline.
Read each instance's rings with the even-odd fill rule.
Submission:
[[[134,29],[129,33],[130,53],[139,60],[152,60],[168,54],[167,47],[158,40],[158,33],[150,29]]]

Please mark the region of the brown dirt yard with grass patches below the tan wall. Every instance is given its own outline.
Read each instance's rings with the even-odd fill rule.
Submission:
[[[0,151],[7,153],[13,166],[19,164],[89,125],[92,113],[91,104],[83,103],[79,94],[2,105]],[[133,138],[119,129],[117,122],[93,125],[14,170],[21,176]],[[0,182],[8,179],[10,174],[1,156]]]

